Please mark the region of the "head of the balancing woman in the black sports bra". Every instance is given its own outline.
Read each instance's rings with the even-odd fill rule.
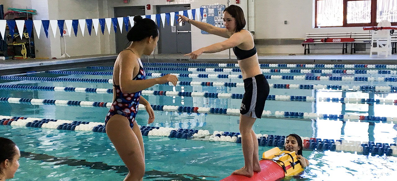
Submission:
[[[245,18],[243,9],[236,5],[230,5],[225,8],[224,25],[229,32],[239,32],[245,27]]]

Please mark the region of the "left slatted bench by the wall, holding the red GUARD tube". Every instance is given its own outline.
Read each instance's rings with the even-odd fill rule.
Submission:
[[[312,38],[313,43],[302,43],[304,44],[304,54],[310,53],[310,44],[342,44],[342,54],[347,53],[347,44],[351,42],[321,42],[323,38],[351,38],[351,32],[315,32],[306,33],[305,40]],[[329,49],[340,49],[340,48],[312,48],[311,50],[329,50]]]

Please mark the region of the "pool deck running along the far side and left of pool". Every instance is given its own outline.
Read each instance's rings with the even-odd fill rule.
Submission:
[[[61,59],[18,59],[0,60],[0,75],[39,72],[45,70],[59,70],[86,66],[111,66],[117,54],[89,55]],[[288,54],[260,54],[259,63],[287,63],[287,64],[397,64],[397,54],[389,57],[368,54],[322,54],[288,55]],[[197,60],[188,59],[183,54],[156,54],[144,56],[142,62],[168,63],[237,63],[236,57],[231,55],[203,54]]]

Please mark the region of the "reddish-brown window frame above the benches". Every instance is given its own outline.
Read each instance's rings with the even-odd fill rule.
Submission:
[[[317,26],[317,2],[321,0],[315,0],[315,26],[314,28],[319,28]],[[376,22],[376,12],[378,6],[378,0],[371,0],[371,23],[347,23],[347,2],[349,1],[362,1],[362,0],[343,0],[343,25],[342,26],[326,26],[320,28],[332,28],[332,27],[376,27],[378,23]],[[397,22],[391,22],[391,26],[397,26]]]

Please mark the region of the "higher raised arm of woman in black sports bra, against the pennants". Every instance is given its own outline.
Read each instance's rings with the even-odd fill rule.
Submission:
[[[184,22],[190,23],[190,24],[194,25],[195,27],[197,27],[198,29],[204,30],[204,31],[206,31],[206,32],[208,32],[210,34],[215,34],[215,35],[218,35],[218,36],[222,36],[224,38],[229,38],[230,37],[230,33],[224,28],[219,28],[219,27],[215,27],[213,25],[210,25],[208,23],[195,21],[195,20],[189,19],[188,17],[183,16],[183,15],[178,15],[178,16],[179,16],[179,18],[177,20],[178,23],[180,23],[181,21],[184,21]]]

